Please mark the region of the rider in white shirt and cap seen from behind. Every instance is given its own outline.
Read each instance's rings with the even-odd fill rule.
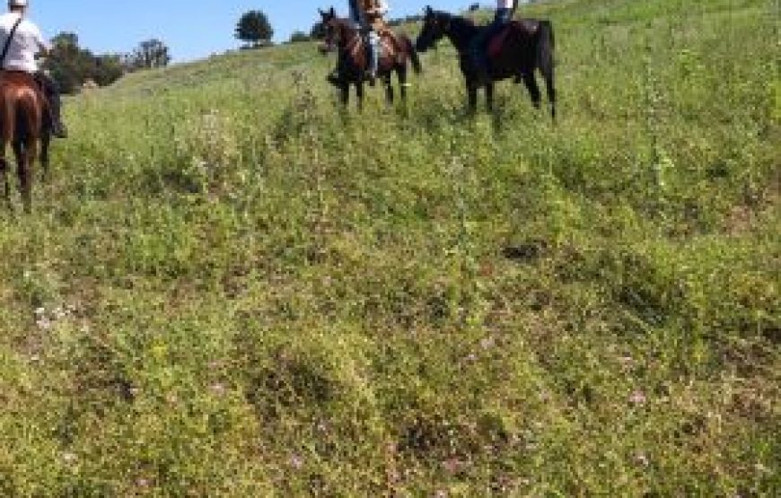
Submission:
[[[27,19],[27,7],[28,0],[8,0],[9,12],[0,15],[0,48],[8,45],[5,60],[0,63],[3,70],[32,74],[48,100],[52,135],[65,138],[67,132],[60,117],[61,101],[57,83],[40,71],[36,60],[37,54],[46,55],[51,46],[41,35],[38,26]],[[8,37],[14,26],[17,26],[16,31],[9,42]]]

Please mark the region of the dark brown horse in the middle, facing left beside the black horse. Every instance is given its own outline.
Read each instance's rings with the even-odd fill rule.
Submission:
[[[322,50],[338,50],[337,76],[334,83],[338,86],[342,103],[347,106],[350,99],[350,85],[355,85],[358,97],[358,109],[363,106],[364,83],[368,81],[366,69],[369,66],[366,41],[355,29],[353,22],[337,17],[333,8],[329,12],[320,11],[325,28],[325,40]],[[412,40],[407,35],[397,35],[390,31],[381,33],[381,50],[377,77],[385,85],[385,96],[389,103],[394,100],[391,77],[399,77],[401,100],[407,99],[408,63],[416,73],[422,71]]]

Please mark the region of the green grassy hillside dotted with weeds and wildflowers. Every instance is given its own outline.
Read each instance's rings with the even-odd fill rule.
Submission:
[[[444,45],[406,110],[310,44],[69,100],[0,213],[0,495],[777,495],[775,5],[524,7],[555,127]]]

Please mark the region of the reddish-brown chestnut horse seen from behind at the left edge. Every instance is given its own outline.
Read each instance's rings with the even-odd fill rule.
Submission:
[[[32,168],[40,144],[40,162],[44,175],[48,171],[48,145],[51,134],[47,125],[48,103],[31,74],[18,71],[0,72],[0,181],[11,205],[8,179],[9,163],[5,159],[8,144],[16,158],[22,204],[28,213],[32,206]]]

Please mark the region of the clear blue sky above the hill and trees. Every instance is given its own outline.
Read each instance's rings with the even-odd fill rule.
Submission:
[[[389,0],[391,16],[399,17],[420,13],[426,4],[457,11],[470,3]],[[248,10],[267,13],[279,41],[292,31],[309,31],[318,7],[331,5],[347,13],[347,0],[31,0],[31,18],[49,38],[75,32],[83,47],[97,53],[128,52],[142,40],[159,38],[181,62],[238,47],[233,30]]]

